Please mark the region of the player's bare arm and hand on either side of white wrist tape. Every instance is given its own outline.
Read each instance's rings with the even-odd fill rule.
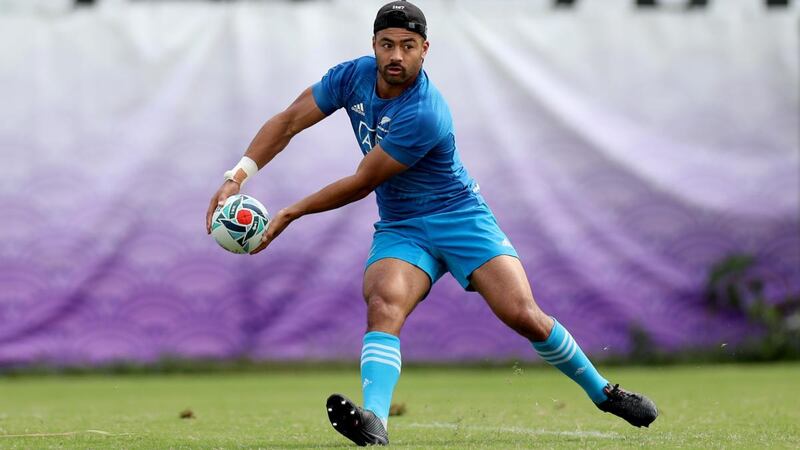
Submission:
[[[320,111],[314,101],[311,88],[307,88],[288,108],[273,116],[258,130],[244,156],[252,159],[259,168],[262,168],[286,148],[286,145],[297,133],[324,118],[325,114]],[[208,211],[206,211],[207,233],[211,233],[211,216],[214,214],[214,210],[218,205],[225,203],[225,199],[239,193],[240,187],[239,183],[226,180],[211,197]]]

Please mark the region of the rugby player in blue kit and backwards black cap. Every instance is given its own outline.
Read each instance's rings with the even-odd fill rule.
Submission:
[[[461,163],[447,103],[422,70],[430,45],[422,11],[393,1],[378,11],[373,33],[374,57],[333,67],[264,124],[242,160],[225,173],[206,216],[210,229],[217,206],[294,135],[345,108],[364,154],[355,173],[280,210],[254,252],[300,217],[376,194],[380,220],[364,273],[364,406],[331,395],[326,406],[333,427],[357,445],[389,443],[389,405],[402,368],[400,330],[445,272],[464,289],[477,291],[500,320],[578,383],[600,410],[649,426],[658,415],[655,404],[611,385],[569,332],[534,301],[517,252]]]

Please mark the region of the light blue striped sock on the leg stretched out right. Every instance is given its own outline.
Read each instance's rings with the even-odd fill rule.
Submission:
[[[546,340],[531,341],[536,353],[550,365],[556,366],[564,375],[572,378],[572,381],[581,385],[593,402],[605,401],[608,397],[603,388],[608,381],[600,376],[569,331],[555,318],[553,322],[553,330]]]

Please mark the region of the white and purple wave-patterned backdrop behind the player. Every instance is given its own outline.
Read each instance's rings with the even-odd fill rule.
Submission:
[[[0,364],[357,358],[372,197],[253,257],[217,247],[203,216],[266,118],[369,52],[363,3],[0,16]],[[485,3],[426,6],[426,68],[534,295],[588,353],[625,353],[633,324],[667,350],[739,341],[752,329],[702,304],[730,252],[759,258],[770,296],[800,290],[788,13],[509,19]],[[246,192],[277,211],[358,158],[340,112]],[[402,339],[406,360],[535,359],[449,276]]]

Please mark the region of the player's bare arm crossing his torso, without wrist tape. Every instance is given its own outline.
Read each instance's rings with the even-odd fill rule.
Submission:
[[[293,220],[307,214],[329,211],[361,200],[379,184],[408,169],[376,145],[361,160],[356,173],[335,181],[292,206],[284,208],[272,218],[262,244],[253,251],[258,253],[272,242]]]

